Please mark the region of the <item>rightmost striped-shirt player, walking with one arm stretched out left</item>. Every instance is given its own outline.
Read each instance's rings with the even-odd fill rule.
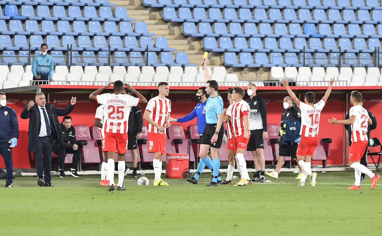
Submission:
[[[367,138],[367,125],[372,124],[369,113],[361,106],[362,94],[358,91],[351,92],[350,96],[351,108],[349,112],[350,118],[347,120],[329,119],[330,124],[351,125],[351,146],[349,151],[350,167],[354,168],[355,182],[348,189],[361,189],[361,173],[367,174],[371,179],[371,189],[376,187],[379,180],[379,174],[372,173],[366,166],[359,163],[363,153],[365,152],[369,140]]]

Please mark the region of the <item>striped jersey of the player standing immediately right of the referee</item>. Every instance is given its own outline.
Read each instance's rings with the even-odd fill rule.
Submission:
[[[244,116],[249,117],[249,104],[241,100],[237,103],[232,102],[231,104],[232,109],[228,113],[227,111],[227,116],[231,117],[231,123],[233,127],[233,135],[235,137],[244,135]],[[249,120],[249,119],[248,119]],[[249,132],[249,127],[248,127],[248,132]]]

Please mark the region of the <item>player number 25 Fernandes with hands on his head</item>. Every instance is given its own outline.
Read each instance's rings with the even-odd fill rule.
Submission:
[[[99,95],[109,86],[114,85],[114,93],[104,93]],[[92,94],[89,98],[104,105],[104,124],[102,130],[104,132],[104,140],[102,149],[107,153],[107,169],[114,169],[115,153],[118,153],[118,187],[117,190],[125,190],[123,187],[123,177],[125,176],[125,153],[128,142],[128,120],[130,109],[132,106],[147,103],[146,98],[142,94],[134,90],[130,85],[126,87],[133,91],[138,98],[134,98],[128,94],[122,94],[123,83],[120,80],[109,83]],[[109,191],[114,191],[114,171],[108,171],[108,179],[110,181]]]

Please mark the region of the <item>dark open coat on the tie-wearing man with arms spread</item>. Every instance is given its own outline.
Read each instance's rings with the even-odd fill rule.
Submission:
[[[52,131],[51,137],[54,140],[62,140],[62,130],[58,116],[67,116],[73,108],[74,106],[71,104],[65,109],[57,108],[49,103],[45,104],[45,110],[47,111],[50,129]],[[40,111],[37,103],[35,103],[29,111],[28,106],[26,106],[23,112],[21,112],[20,117],[21,119],[29,119],[28,151],[36,152],[37,137],[39,137],[41,129]]]

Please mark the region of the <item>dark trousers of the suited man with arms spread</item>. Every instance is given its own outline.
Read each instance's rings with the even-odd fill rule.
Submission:
[[[52,140],[50,137],[37,138],[35,155],[37,176],[42,179],[42,173],[44,172],[45,183],[50,183],[50,168],[52,164]],[[44,156],[44,159],[42,156]]]

